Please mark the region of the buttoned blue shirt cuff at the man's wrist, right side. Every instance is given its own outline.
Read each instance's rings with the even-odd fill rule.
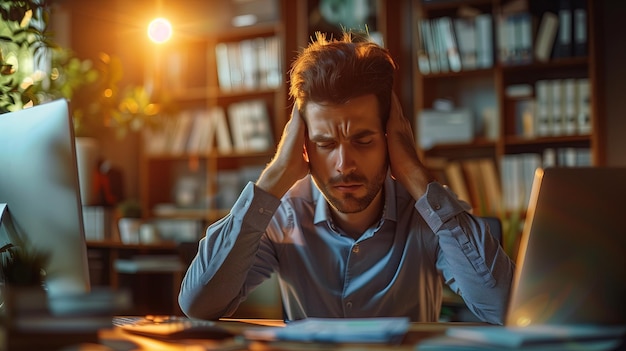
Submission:
[[[471,206],[459,200],[447,186],[439,182],[430,182],[426,187],[426,193],[415,203],[415,209],[436,233],[443,223],[461,212],[471,210]]]

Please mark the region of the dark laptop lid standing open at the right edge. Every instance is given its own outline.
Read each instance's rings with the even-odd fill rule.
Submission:
[[[506,325],[626,324],[626,168],[538,169]]]

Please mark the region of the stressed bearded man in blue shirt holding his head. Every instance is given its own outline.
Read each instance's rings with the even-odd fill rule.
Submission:
[[[443,278],[479,318],[503,322],[513,264],[418,159],[395,68],[350,34],[318,35],[300,54],[276,155],[207,229],[184,278],[188,316],[228,316],[277,273],[291,320],[437,321]]]

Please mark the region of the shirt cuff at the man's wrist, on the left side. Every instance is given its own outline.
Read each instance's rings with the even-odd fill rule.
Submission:
[[[274,216],[280,200],[270,193],[248,182],[233,205],[231,214],[243,214],[243,220],[253,229],[265,231]]]

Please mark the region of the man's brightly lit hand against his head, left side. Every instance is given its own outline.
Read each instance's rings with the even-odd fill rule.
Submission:
[[[256,182],[259,188],[280,199],[295,182],[309,173],[309,163],[304,154],[304,133],[304,120],[295,103],[276,154]]]

